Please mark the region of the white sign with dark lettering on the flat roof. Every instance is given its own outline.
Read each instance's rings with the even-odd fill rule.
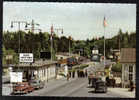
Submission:
[[[20,53],[19,61],[20,62],[33,62],[33,54],[32,53]]]

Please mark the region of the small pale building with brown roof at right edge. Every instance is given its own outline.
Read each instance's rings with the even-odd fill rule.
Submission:
[[[122,48],[120,63],[122,64],[122,87],[128,87],[130,80],[136,82],[136,49]]]

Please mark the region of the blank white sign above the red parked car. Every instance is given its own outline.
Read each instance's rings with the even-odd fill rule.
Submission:
[[[22,72],[10,72],[10,82],[22,82]]]

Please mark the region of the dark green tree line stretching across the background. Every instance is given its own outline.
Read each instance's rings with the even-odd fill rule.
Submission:
[[[72,37],[53,34],[53,54],[57,52],[81,53],[82,56],[90,57],[92,49],[97,46],[99,52],[103,54],[104,37],[99,39],[92,38],[86,40],[74,40]],[[18,53],[33,53],[35,58],[40,57],[40,52],[51,51],[51,34],[40,32],[38,34],[25,31],[3,32],[3,60],[6,55],[13,54],[18,58]],[[19,41],[20,40],[20,41]],[[136,32],[123,33],[120,29],[117,35],[106,39],[106,55],[110,55],[111,49],[136,48]],[[14,59],[15,59],[14,58]],[[4,60],[5,61],[5,60]],[[15,60],[15,62],[17,62]]]

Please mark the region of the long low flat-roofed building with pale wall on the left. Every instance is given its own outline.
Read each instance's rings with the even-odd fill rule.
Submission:
[[[56,62],[22,63],[13,66],[13,72],[23,72],[23,81],[26,82],[32,79],[48,81],[56,77]]]

